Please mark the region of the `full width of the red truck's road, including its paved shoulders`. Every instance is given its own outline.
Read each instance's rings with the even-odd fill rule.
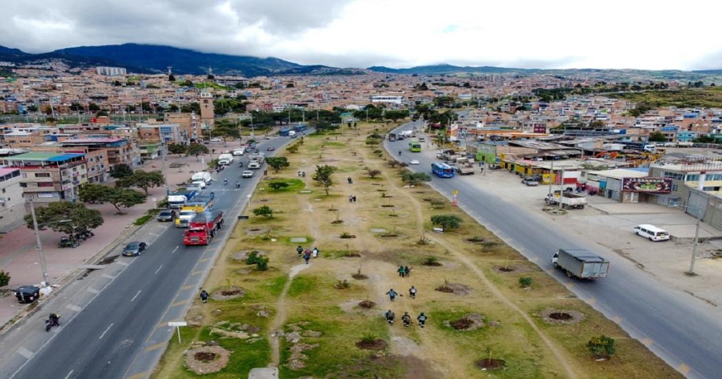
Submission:
[[[282,137],[261,141],[259,149],[265,152],[266,147],[279,148],[287,141],[289,139]],[[66,305],[64,310],[53,310],[49,308],[52,303],[45,305],[42,317],[53,311],[61,313],[61,323],[64,321],[61,328],[53,328],[46,334],[43,324],[36,320],[4,336],[0,377],[148,377],[173,335],[167,322],[182,320],[191,300],[198,296],[204,274],[235,225],[235,215],[263,174],[264,168],[261,168],[253,170],[253,178],[240,178],[248,161],[242,157],[244,167],[239,168],[239,157],[235,158],[232,165],[214,174],[213,186],[206,188],[206,192],[215,192],[214,209],[227,210],[226,225],[219,238],[207,247],[186,248],[183,230],[164,227],[160,231],[153,219],[144,227],[151,232],[140,234],[153,239],[142,256],[121,256],[110,266],[117,272],[95,271],[84,279],[87,285],[75,284],[66,289],[63,296],[58,294],[58,304],[63,298],[76,299],[82,307]],[[228,178],[228,186],[223,186],[223,178]],[[242,183],[240,189],[235,189],[236,180]],[[105,284],[97,284],[103,279]]]

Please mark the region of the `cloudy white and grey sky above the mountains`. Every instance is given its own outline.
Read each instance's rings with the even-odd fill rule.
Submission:
[[[345,67],[722,69],[722,1],[0,0],[0,6],[0,45],[30,53],[135,42]]]

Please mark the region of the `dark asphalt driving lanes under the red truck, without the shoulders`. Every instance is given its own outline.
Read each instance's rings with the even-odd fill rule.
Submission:
[[[265,152],[266,147],[279,148],[287,141],[282,137],[261,141],[259,148]],[[248,163],[246,157],[235,157],[232,165],[214,174],[214,184],[206,188],[206,192],[215,192],[214,209],[230,210],[238,206],[256,187],[267,165],[261,170],[253,170],[253,178],[240,178]],[[243,168],[238,167],[238,158],[243,160]],[[223,186],[223,178],[228,178],[227,186]],[[235,189],[236,180],[242,183],[240,189]],[[229,216],[226,214],[222,233],[229,233],[235,225],[235,219],[229,219]],[[157,221],[152,220],[149,227],[153,223]],[[163,321],[167,310],[181,305],[172,302],[186,279],[200,277],[201,272],[192,271],[196,263],[204,252],[218,250],[223,240],[222,237],[215,238],[207,248],[186,247],[182,235],[183,229],[169,227],[157,235],[142,256],[119,257],[118,261],[131,263],[71,322],[54,329],[57,335],[35,352],[14,378],[124,378],[132,374],[128,373],[129,367],[144,349],[147,350],[147,339]],[[197,288],[189,290],[198,291]],[[30,333],[45,333],[40,326],[36,328],[37,331],[33,329]],[[51,334],[45,338],[48,336]],[[12,372],[2,370],[0,373],[8,378]]]

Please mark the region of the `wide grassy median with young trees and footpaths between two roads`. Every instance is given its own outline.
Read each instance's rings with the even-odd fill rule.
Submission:
[[[380,143],[367,141],[395,125],[344,125],[287,152],[289,167],[253,193],[204,284],[209,303],[191,307],[183,343],[171,339],[154,378],[245,378],[268,365],[281,378],[682,377],[425,186],[431,178],[375,153]],[[305,264],[299,245],[318,258]],[[391,288],[403,296],[391,302]],[[184,352],[214,345],[230,351],[225,368],[191,372]]]

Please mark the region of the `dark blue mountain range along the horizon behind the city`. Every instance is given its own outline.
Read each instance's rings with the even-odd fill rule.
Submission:
[[[560,77],[585,76],[592,79],[609,80],[719,80],[722,70],[612,70],[612,69],[516,69],[495,66],[453,66],[435,64],[406,69],[385,66],[371,66],[367,69],[342,69],[323,65],[303,65],[280,58],[258,58],[255,56],[232,56],[217,53],[201,53],[184,48],[165,45],[144,45],[124,43],[122,45],[79,46],[63,48],[49,53],[25,53],[17,48],[0,46],[0,61],[15,64],[43,64],[48,61],[62,61],[68,66],[90,68],[93,66],[125,67],[129,72],[159,74],[173,67],[174,74],[243,75],[245,77],[277,75],[359,75],[368,72],[383,74],[549,74]]]

